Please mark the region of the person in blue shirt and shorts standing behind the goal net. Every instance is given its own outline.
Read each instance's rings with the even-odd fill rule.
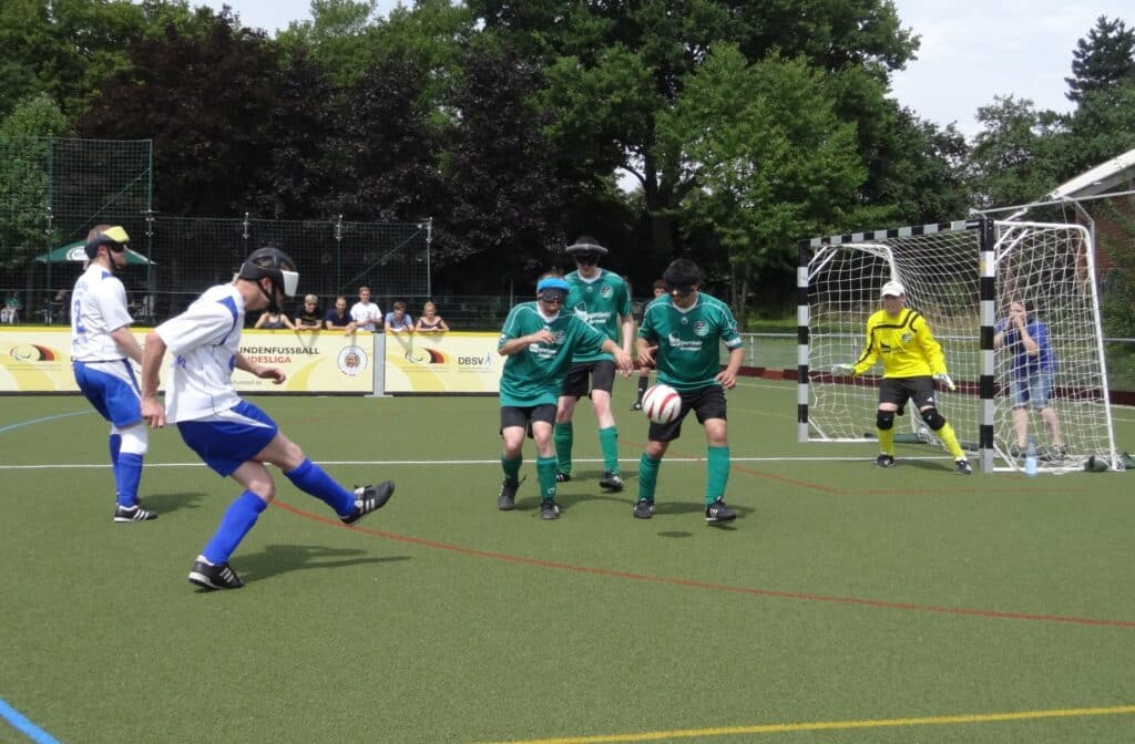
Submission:
[[[1009,303],[1009,315],[998,321],[993,331],[993,348],[1012,354],[1009,373],[1009,396],[1012,400],[1012,425],[1017,436],[1015,456],[1028,447],[1028,406],[1041,414],[1049,440],[1058,457],[1066,454],[1060,433],[1060,417],[1052,407],[1052,383],[1057,372],[1057,355],[1049,341],[1049,327],[1029,315],[1025,303]]]

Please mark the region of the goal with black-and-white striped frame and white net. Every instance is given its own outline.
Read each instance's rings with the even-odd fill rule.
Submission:
[[[1042,472],[1082,468],[1090,457],[1121,468],[1109,405],[1092,235],[1081,225],[975,219],[813,238],[799,244],[797,324],[800,441],[875,439],[880,367],[858,378],[833,374],[865,343],[880,288],[899,280],[945,353],[953,391],[936,398],[961,446],[982,470],[1018,471],[1010,396],[1014,354],[994,349],[994,328],[1011,301],[1048,325],[1057,371],[1051,421],[1031,407],[1028,433]],[[898,441],[940,445],[908,406]]]

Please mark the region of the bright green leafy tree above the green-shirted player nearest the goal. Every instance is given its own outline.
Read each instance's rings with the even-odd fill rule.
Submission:
[[[866,169],[855,125],[804,59],[749,65],[735,45],[714,46],[658,130],[661,158],[697,184],[682,208],[724,248],[739,318],[763,278],[794,265],[794,238],[856,210]]]

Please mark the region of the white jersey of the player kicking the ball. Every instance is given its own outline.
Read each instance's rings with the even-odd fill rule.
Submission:
[[[233,369],[242,328],[244,297],[234,285],[218,285],[154,329],[173,355],[166,382],[169,423],[207,418],[241,401]]]

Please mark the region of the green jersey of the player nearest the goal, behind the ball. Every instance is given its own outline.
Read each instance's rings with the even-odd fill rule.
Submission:
[[[675,390],[697,390],[721,384],[721,348],[741,346],[741,335],[729,305],[704,291],[693,305],[682,310],[670,295],[658,297],[642,311],[639,337],[658,345],[654,360],[658,382]]]

